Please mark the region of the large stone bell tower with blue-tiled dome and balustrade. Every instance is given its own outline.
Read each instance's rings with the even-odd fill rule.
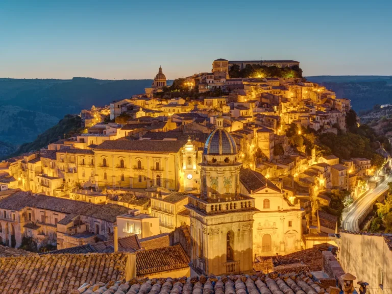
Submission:
[[[200,165],[201,193],[189,195],[191,274],[236,274],[253,270],[254,199],[238,193],[234,138],[216,119]]]

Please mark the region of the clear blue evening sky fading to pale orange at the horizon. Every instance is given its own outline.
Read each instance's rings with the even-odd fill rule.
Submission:
[[[392,75],[392,1],[0,1],[0,77],[168,79],[214,59]]]

